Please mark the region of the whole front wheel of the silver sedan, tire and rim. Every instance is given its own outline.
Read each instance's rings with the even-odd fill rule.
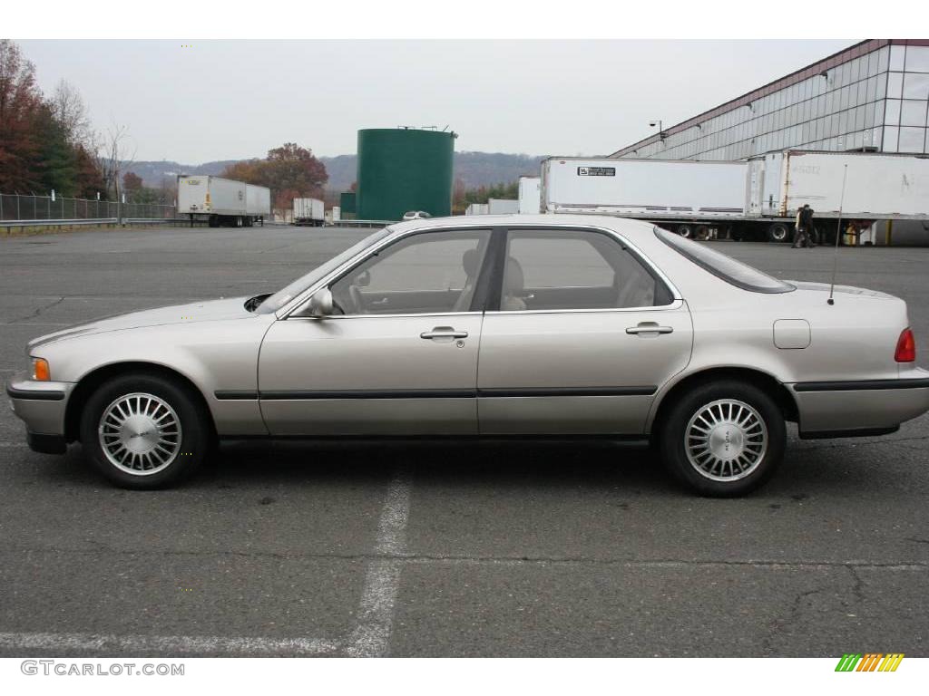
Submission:
[[[164,488],[200,466],[212,431],[188,389],[154,375],[125,375],[105,382],[88,399],[81,442],[112,483]]]

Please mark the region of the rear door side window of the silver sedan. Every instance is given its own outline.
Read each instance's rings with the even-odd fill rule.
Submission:
[[[504,311],[651,307],[671,300],[664,283],[606,234],[520,230],[508,235]]]

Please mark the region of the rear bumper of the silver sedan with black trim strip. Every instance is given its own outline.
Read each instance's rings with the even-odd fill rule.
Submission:
[[[801,437],[894,432],[929,411],[929,372],[922,369],[897,380],[798,382],[792,388]]]

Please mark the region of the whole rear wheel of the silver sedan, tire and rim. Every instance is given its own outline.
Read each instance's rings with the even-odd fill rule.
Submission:
[[[774,400],[734,380],[687,392],[661,429],[661,458],[703,496],[741,496],[765,483],[784,456],[786,427]]]

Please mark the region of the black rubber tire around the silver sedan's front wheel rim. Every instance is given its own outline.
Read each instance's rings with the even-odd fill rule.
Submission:
[[[179,422],[179,443],[169,445],[175,451],[174,456],[166,457],[163,467],[153,473],[131,473],[126,470],[130,467],[117,466],[100,444],[98,429],[105,411],[128,394],[156,397],[173,409]],[[215,438],[209,416],[190,388],[157,375],[130,374],[105,382],[87,400],[81,418],[81,443],[91,464],[111,483],[121,488],[150,490],[166,488],[190,476],[213,450]]]

